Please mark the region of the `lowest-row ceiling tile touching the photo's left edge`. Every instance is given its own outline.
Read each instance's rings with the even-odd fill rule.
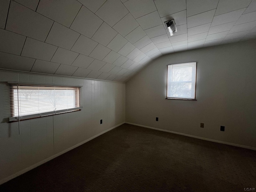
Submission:
[[[35,59],[0,52],[0,68],[30,71]]]

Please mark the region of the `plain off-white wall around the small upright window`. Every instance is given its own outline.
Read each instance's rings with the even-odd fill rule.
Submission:
[[[197,100],[165,99],[167,65],[191,61]],[[126,122],[256,148],[256,41],[154,60],[126,82]]]

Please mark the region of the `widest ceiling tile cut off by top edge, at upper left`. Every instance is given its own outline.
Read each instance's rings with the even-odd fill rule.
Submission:
[[[36,12],[70,27],[82,4],[76,0],[50,1],[40,0]]]

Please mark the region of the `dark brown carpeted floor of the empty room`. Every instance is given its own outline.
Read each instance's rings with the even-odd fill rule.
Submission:
[[[0,191],[242,192],[246,188],[256,188],[256,151],[123,124],[2,184]]]

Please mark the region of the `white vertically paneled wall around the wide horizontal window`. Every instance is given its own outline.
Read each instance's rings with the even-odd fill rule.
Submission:
[[[7,81],[82,85],[81,111],[6,123]],[[6,100],[7,99],[7,100]],[[125,84],[0,71],[0,184],[125,121]],[[100,120],[103,123],[100,124]]]

